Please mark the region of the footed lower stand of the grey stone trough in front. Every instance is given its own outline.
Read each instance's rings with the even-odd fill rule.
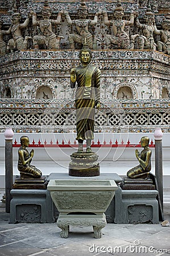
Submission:
[[[60,236],[68,237],[69,226],[93,226],[94,237],[101,238],[101,229],[106,226],[106,216],[103,214],[59,214],[57,226],[62,229]]]

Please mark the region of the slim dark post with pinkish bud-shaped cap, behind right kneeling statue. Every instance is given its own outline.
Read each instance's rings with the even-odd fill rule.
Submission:
[[[160,128],[155,129],[155,175],[160,195],[160,203],[163,209],[163,150],[162,150],[163,133]]]

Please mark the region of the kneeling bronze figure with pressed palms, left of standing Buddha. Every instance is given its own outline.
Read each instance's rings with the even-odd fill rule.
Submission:
[[[30,154],[27,150],[29,146],[29,138],[27,136],[20,137],[20,148],[18,150],[18,170],[20,171],[21,179],[39,179],[42,176],[42,172],[30,163],[34,156],[34,150],[32,149]]]

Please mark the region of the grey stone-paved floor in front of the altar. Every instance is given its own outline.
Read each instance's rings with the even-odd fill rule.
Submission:
[[[164,205],[170,221],[170,204]],[[68,238],[60,237],[57,224],[9,224],[9,214],[0,208],[0,255],[94,256],[170,255],[170,227],[161,224],[107,224],[102,238],[91,227],[72,227]]]

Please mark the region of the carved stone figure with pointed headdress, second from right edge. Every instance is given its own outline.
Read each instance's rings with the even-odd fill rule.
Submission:
[[[141,24],[138,17],[135,19],[135,26],[140,28],[142,35],[138,38],[139,49],[156,49],[154,34],[159,35],[156,28],[154,14],[151,12],[150,5],[145,14],[146,24]]]

